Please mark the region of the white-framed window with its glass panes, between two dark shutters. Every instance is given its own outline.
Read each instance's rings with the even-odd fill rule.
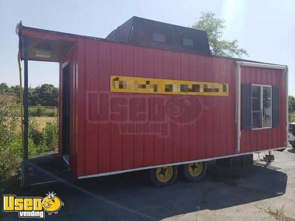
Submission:
[[[271,86],[252,85],[252,129],[271,128]]]

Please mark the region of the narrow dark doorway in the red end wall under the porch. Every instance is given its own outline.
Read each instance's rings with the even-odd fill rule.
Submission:
[[[62,137],[61,153],[63,159],[69,164],[70,154],[70,62],[62,67],[61,90],[62,90]]]

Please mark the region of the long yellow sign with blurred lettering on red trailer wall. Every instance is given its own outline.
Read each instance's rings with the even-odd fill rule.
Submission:
[[[229,96],[228,83],[111,76],[111,92]]]

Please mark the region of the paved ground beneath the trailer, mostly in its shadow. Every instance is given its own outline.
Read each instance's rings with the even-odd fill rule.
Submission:
[[[295,149],[272,153],[275,161],[270,164],[254,154],[253,166],[234,169],[212,161],[202,181],[187,182],[180,173],[175,184],[165,188],[153,187],[143,170],[14,194],[57,193],[64,207],[57,215],[45,215],[51,220],[295,221]],[[4,217],[17,218],[17,213]]]

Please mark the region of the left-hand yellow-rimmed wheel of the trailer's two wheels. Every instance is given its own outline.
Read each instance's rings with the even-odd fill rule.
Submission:
[[[172,185],[177,177],[177,166],[161,166],[150,169],[150,180],[156,187]]]

